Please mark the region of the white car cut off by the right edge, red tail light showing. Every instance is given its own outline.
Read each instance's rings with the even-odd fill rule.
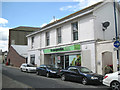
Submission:
[[[120,71],[106,74],[103,84],[112,88],[112,90],[120,90]]]

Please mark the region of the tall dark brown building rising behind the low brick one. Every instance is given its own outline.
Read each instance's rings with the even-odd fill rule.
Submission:
[[[38,30],[40,30],[40,28],[26,26],[19,26],[9,29],[8,46],[10,47],[11,45],[27,45],[26,35]]]

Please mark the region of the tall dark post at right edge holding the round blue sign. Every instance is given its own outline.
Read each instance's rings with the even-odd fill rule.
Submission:
[[[116,33],[116,41],[118,41],[118,31],[117,31],[117,17],[116,17],[116,3],[115,0],[113,2],[114,6],[114,20],[115,20],[115,33]],[[118,71],[119,71],[119,49],[117,49],[117,65],[118,65]]]

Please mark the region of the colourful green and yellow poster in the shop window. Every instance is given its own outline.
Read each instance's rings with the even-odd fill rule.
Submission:
[[[69,66],[81,66],[81,56],[80,55],[70,55],[69,56]]]

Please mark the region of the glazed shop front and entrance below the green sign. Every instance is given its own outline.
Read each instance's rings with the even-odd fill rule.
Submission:
[[[81,55],[56,55],[53,58],[53,65],[65,69],[68,66],[81,66]]]

